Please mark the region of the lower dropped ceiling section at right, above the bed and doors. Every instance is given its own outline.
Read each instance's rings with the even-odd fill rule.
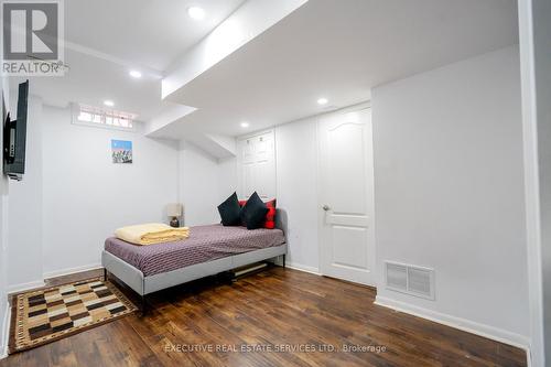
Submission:
[[[171,95],[198,109],[153,136],[242,134],[515,43],[514,0],[311,0]]]

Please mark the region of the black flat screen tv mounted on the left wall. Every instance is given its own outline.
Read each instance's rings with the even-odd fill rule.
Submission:
[[[29,80],[19,85],[18,118],[6,117],[3,127],[3,172],[12,180],[23,180],[25,173],[26,115]]]

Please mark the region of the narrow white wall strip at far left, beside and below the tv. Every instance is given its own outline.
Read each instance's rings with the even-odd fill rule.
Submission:
[[[17,111],[17,97],[11,96],[12,114]],[[25,174],[23,181],[9,183],[8,284],[10,291],[43,284],[42,112],[42,99],[31,96],[28,105]]]

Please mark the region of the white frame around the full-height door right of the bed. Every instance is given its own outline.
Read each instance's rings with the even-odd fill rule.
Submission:
[[[322,162],[321,162],[321,152],[322,152],[322,139],[321,139],[321,132],[320,132],[320,125],[321,125],[321,119],[326,116],[331,115],[342,115],[342,114],[347,114],[347,112],[355,112],[364,109],[371,108],[371,101],[363,101],[353,106],[347,106],[341,109],[336,109],[326,114],[320,114],[316,118],[316,155],[317,155],[317,162],[316,162],[316,196],[317,196],[317,251],[318,251],[318,259],[317,259],[317,269],[321,276],[324,276],[323,270],[322,270],[322,250],[323,250],[323,234],[324,234],[324,218],[325,218],[325,212],[322,209],[322,206],[325,204],[323,203],[323,197],[322,197]],[[371,111],[371,127],[372,127],[372,111]],[[375,158],[375,156],[374,156]],[[374,171],[375,171],[375,164],[374,164]],[[374,175],[372,182],[375,186],[375,172],[371,172]],[[371,230],[369,233],[370,240],[374,244],[374,253],[370,259],[370,267],[371,267],[371,273],[372,273],[372,279],[374,279],[374,288],[376,288],[377,280],[378,280],[378,269],[377,269],[377,237],[375,235],[376,233],[376,214],[375,214],[375,187],[372,187],[372,193],[371,197],[374,198],[374,213],[371,214],[372,220],[371,220]]]

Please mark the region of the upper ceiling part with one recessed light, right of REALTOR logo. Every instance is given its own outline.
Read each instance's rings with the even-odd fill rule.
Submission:
[[[245,0],[68,0],[65,37],[109,55],[165,71]],[[201,6],[195,21],[187,9]]]

